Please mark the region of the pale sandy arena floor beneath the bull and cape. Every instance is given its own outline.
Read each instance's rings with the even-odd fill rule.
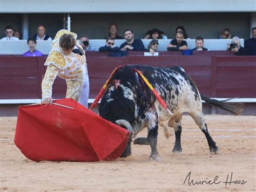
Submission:
[[[0,118],[0,191],[256,190],[256,116],[206,115],[217,155],[192,118],[183,116],[181,154],[171,153],[175,136],[167,140],[159,130],[161,162],[149,161],[149,146],[134,145],[130,157],[112,162],[33,162],[14,145],[16,119]],[[189,185],[189,173],[189,182],[215,182]],[[225,184],[231,174],[232,183]]]

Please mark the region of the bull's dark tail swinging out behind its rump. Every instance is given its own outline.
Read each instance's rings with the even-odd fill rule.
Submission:
[[[226,99],[226,100],[223,100],[223,101],[218,101],[216,99],[210,99],[210,98],[205,97],[204,95],[201,95],[201,99],[203,99],[205,102],[207,102],[207,104],[220,107],[223,110],[231,112],[235,115],[239,115],[242,112],[242,109],[245,105],[244,103],[237,104],[237,103],[232,103],[232,102],[226,102],[226,101],[231,100],[233,98]]]

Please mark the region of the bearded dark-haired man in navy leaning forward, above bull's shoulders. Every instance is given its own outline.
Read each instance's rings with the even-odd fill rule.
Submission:
[[[131,29],[126,29],[124,31],[124,38],[126,42],[120,46],[121,51],[144,51],[145,50],[142,40],[134,39],[134,34]]]

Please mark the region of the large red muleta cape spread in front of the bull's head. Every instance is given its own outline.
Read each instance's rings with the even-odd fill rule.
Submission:
[[[19,106],[15,145],[33,161],[115,160],[129,132],[101,118],[73,99],[57,105]]]

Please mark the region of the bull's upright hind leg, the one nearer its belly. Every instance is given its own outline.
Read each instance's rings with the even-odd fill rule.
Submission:
[[[182,152],[181,140],[180,140],[180,138],[181,138],[181,123],[180,123],[181,118],[182,118],[182,115],[179,114],[179,115],[173,116],[168,122],[168,126],[173,127],[175,130],[175,144],[172,149],[173,153],[181,153]]]

